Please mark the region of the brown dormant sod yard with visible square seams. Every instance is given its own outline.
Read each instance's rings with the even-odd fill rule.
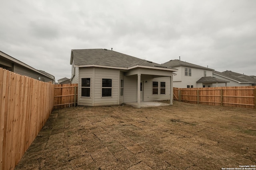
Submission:
[[[20,169],[216,169],[256,165],[256,110],[71,107],[52,112]]]

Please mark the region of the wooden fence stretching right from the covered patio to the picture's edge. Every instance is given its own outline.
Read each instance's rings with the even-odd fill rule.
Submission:
[[[256,86],[173,88],[173,96],[191,104],[256,109]]]

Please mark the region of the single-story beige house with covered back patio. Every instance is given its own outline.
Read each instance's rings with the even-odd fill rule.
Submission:
[[[78,83],[78,105],[170,100],[175,68],[107,49],[71,50],[72,83]]]

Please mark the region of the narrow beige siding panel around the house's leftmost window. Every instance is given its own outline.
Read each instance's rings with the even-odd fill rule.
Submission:
[[[92,82],[93,82],[93,68],[80,68],[78,79],[78,105],[81,106],[92,106]],[[91,78],[91,88],[90,88],[90,97],[81,97],[81,79],[82,78]]]

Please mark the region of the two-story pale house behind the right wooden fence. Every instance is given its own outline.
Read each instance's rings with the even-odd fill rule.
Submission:
[[[214,78],[212,72],[214,69],[199,66],[180,60],[171,60],[164,63],[166,66],[178,69],[177,75],[173,77],[173,86],[177,88],[200,88],[213,87],[218,84],[224,84],[228,81],[220,78]]]

